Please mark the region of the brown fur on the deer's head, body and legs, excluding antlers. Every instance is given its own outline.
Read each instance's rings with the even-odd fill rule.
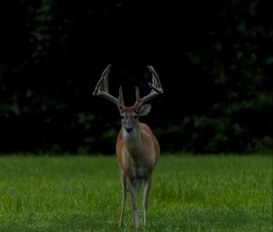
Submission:
[[[126,107],[126,112],[121,113],[125,117],[122,119],[122,128],[116,139],[116,157],[123,189],[119,226],[123,225],[126,191],[128,190],[132,200],[134,227],[137,228],[139,227],[137,192],[141,186],[144,186],[143,214],[146,227],[151,176],[160,156],[160,146],[150,127],[147,124],[139,123],[138,118],[134,118],[134,112],[133,108]],[[127,125],[133,126],[130,133],[126,132]]]

